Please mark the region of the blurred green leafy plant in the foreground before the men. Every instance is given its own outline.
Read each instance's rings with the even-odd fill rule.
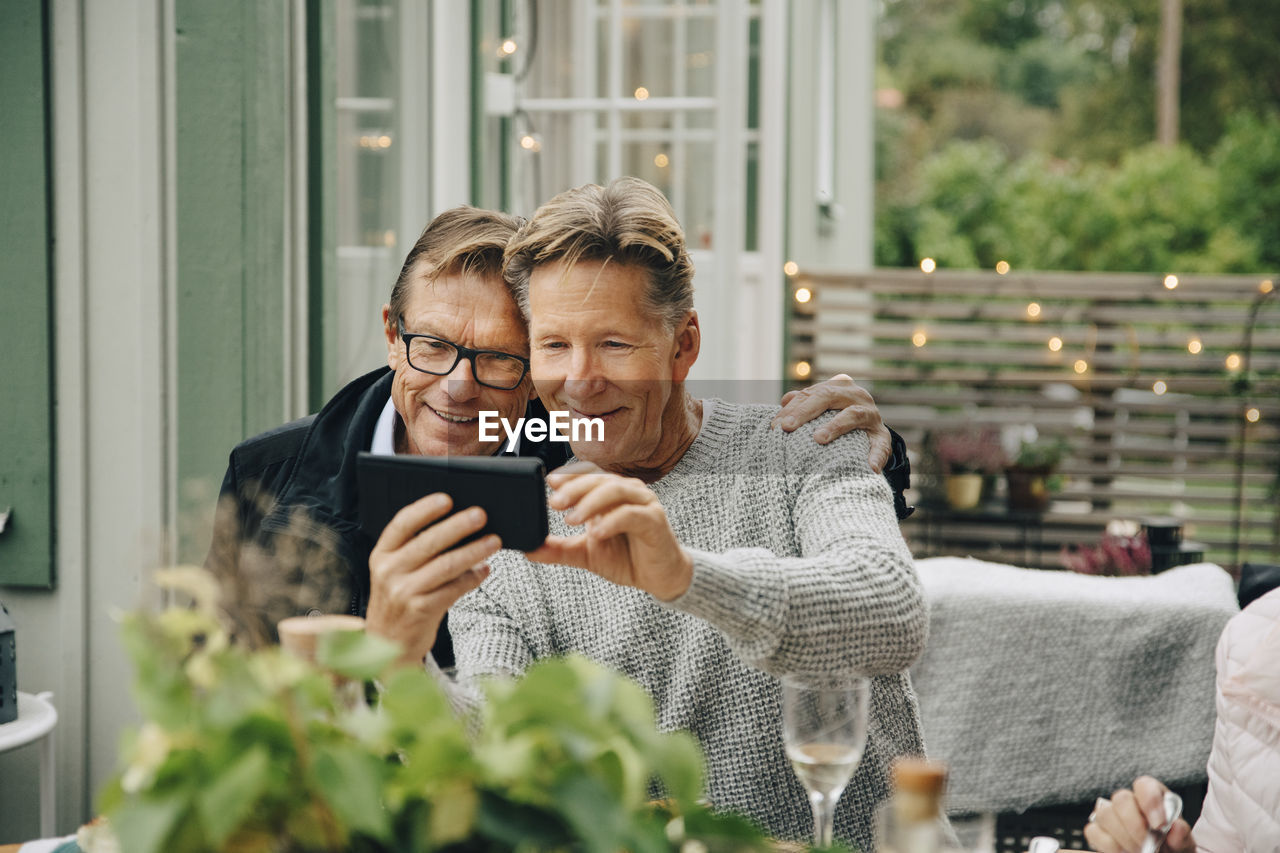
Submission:
[[[124,617],[145,722],[100,797],[119,849],[764,849],[698,804],[696,742],[659,733],[644,690],[585,658],[493,681],[462,720],[385,640],[326,635],[317,665],[250,649],[207,573],[159,581],[192,605]]]

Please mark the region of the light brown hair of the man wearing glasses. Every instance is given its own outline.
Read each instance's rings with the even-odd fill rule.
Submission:
[[[525,220],[520,216],[461,206],[445,210],[422,231],[404,257],[392,288],[390,320],[404,318],[410,286],[421,277],[434,282],[440,275],[500,275],[502,256]]]

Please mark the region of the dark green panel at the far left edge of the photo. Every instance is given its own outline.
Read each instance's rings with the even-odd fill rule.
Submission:
[[[54,585],[47,17],[0,4],[0,584]]]

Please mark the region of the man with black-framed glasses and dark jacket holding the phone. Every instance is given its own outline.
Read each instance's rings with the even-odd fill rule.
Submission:
[[[351,382],[320,412],[232,451],[206,565],[223,579],[247,638],[270,642],[287,616],[349,612],[399,642],[406,660],[434,651],[440,666],[452,665],[444,615],[486,576],[498,543],[456,547],[484,526],[484,515],[444,517],[451,506],[442,496],[410,505],[372,542],[360,529],[356,455],[494,455],[503,438],[481,439],[480,411],[512,423],[526,412],[547,418],[531,393],[525,321],[502,279],[503,251],[520,225],[474,207],[436,216],[383,307],[388,366]],[[780,421],[792,419],[783,428],[794,428],[841,407],[829,438],[855,428],[879,434],[872,461],[883,465],[888,433],[847,377],[791,398]],[[522,441],[513,452],[540,456],[550,470],[564,461],[563,448]]]

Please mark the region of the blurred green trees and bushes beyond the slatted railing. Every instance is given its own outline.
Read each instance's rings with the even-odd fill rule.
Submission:
[[[876,263],[1280,268],[1274,0],[1185,4],[1155,136],[1160,0],[882,0]]]

